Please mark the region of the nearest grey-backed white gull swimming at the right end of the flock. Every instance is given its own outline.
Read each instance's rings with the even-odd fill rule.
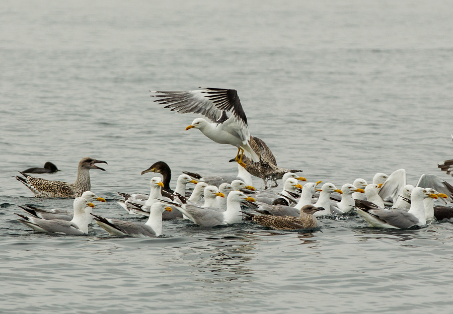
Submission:
[[[408,212],[401,209],[389,210],[363,207],[356,207],[356,210],[373,227],[406,229],[426,224],[423,200],[427,197],[437,198],[437,195],[427,189],[416,187],[412,191],[411,208]]]

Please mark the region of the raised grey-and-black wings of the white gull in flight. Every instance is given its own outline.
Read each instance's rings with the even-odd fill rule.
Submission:
[[[212,122],[222,123],[226,121],[224,111],[231,112],[236,120],[247,126],[247,117],[242,109],[241,101],[236,90],[225,90],[218,88],[205,88],[203,90],[187,92],[156,92],[162,95],[155,100],[166,105],[164,108],[171,108],[179,113],[198,113]]]

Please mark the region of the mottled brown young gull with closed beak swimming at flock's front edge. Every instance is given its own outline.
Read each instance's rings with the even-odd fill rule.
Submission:
[[[270,227],[274,230],[294,230],[317,227],[318,220],[313,214],[318,210],[324,210],[324,208],[318,208],[309,204],[302,207],[299,217],[243,213],[246,215],[245,218],[247,220],[254,221],[264,227]]]

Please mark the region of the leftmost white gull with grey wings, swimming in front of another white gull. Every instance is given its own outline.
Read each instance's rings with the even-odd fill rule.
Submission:
[[[19,206],[19,205],[18,205]],[[88,219],[85,208],[87,206],[94,207],[93,203],[89,203],[85,198],[77,197],[74,199],[74,217],[71,221],[53,219],[46,220],[36,217],[28,217],[15,213],[23,219],[17,219],[26,226],[32,228],[37,232],[56,232],[64,233],[69,236],[87,234],[88,233]],[[19,206],[25,210],[25,207]]]

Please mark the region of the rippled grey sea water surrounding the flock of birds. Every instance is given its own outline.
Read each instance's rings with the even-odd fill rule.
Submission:
[[[147,192],[156,161],[234,174],[236,148],[149,90],[234,88],[279,166],[337,187],[404,168],[449,182],[450,1],[0,2],[0,312],[451,313],[453,225],[369,228],[356,215],[311,233],[251,223],[164,222],[164,236],[39,234],[15,220],[36,199],[11,176],[73,182],[85,156],[95,212],[136,221],[115,191]],[[261,180],[254,181],[256,187]],[[172,185],[175,185],[173,180]]]

